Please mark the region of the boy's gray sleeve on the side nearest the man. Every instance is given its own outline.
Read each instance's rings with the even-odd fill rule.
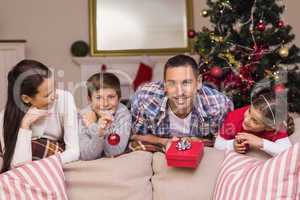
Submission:
[[[117,117],[113,125],[115,126],[116,133],[120,136],[120,143],[113,146],[108,143],[108,135],[105,134],[104,140],[104,153],[106,156],[116,156],[123,153],[127,147],[127,143],[130,137],[131,131],[131,115],[128,110],[122,112],[119,117]]]

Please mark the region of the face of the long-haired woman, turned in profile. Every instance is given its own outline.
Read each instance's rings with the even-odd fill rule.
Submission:
[[[49,108],[57,99],[54,79],[51,77],[44,79],[44,81],[38,86],[37,94],[34,97],[22,95],[22,99],[24,103],[29,103],[31,106],[38,109]]]

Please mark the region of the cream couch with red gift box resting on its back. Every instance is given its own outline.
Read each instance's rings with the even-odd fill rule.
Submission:
[[[293,143],[300,141],[300,118],[295,119]],[[251,156],[269,158],[262,152]],[[208,200],[224,152],[205,148],[196,170],[170,168],[162,153],[133,152],[110,159],[78,161],[65,166],[67,192],[71,200]]]

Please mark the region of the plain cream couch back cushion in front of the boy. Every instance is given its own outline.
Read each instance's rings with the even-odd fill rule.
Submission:
[[[117,158],[77,161],[64,167],[70,200],[152,200],[152,154],[132,152]]]

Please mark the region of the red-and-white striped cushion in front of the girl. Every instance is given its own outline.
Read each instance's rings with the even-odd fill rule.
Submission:
[[[214,199],[298,199],[299,178],[299,143],[267,161],[229,152],[218,175]]]

